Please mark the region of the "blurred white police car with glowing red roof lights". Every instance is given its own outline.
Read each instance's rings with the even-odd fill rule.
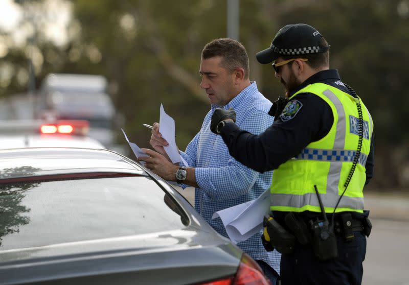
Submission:
[[[89,123],[84,120],[0,121],[0,149],[34,147],[76,147],[103,149],[87,136]]]

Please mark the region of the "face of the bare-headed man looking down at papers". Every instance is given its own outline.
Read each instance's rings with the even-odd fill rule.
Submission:
[[[220,66],[221,57],[200,60],[200,88],[205,89],[210,104],[224,106],[237,94],[235,93],[234,74]]]

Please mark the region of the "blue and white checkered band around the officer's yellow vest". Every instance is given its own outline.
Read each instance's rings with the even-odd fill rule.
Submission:
[[[292,159],[352,162],[356,151],[352,150],[320,150],[305,148],[299,155]],[[358,163],[365,167],[368,155],[360,153]]]

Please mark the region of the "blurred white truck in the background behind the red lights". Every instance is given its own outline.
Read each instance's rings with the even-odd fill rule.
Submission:
[[[49,74],[38,91],[35,118],[86,120],[88,136],[113,148],[116,112],[107,93],[107,80],[99,75]]]

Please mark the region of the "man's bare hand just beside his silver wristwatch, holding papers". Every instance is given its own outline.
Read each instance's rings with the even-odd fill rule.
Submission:
[[[178,165],[170,162],[165,156],[150,149],[141,149],[149,157],[140,157],[138,160],[145,161],[145,167],[163,179],[176,181],[175,173]]]

